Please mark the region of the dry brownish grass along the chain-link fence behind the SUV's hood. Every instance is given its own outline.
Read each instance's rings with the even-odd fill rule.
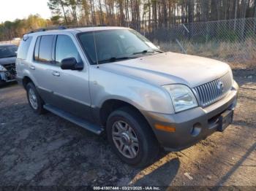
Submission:
[[[176,42],[155,42],[162,50],[182,52]],[[244,42],[195,43],[181,41],[189,55],[199,55],[230,63],[233,67],[256,68],[256,39],[247,38]]]

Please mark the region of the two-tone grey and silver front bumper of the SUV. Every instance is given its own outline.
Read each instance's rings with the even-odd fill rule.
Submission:
[[[154,112],[143,112],[143,114],[162,147],[172,151],[181,150],[214,133],[219,127],[216,119],[227,109],[235,108],[237,95],[238,85],[234,82],[232,90],[224,98],[206,108],[197,107],[176,114]],[[159,130],[155,125],[175,127],[176,131]],[[195,127],[197,127],[196,131]]]

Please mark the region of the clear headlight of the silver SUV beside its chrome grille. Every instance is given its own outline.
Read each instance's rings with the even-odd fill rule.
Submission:
[[[198,106],[195,95],[186,85],[165,85],[163,87],[170,93],[175,112]]]

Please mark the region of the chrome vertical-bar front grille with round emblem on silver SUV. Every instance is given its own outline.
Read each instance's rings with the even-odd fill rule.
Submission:
[[[200,106],[208,106],[221,99],[232,87],[232,77],[230,73],[219,79],[193,88],[199,99]]]

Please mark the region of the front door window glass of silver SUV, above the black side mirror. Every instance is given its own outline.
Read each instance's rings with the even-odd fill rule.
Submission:
[[[65,58],[75,58],[81,61],[77,48],[72,39],[67,35],[58,35],[56,42],[56,63],[60,65]]]

